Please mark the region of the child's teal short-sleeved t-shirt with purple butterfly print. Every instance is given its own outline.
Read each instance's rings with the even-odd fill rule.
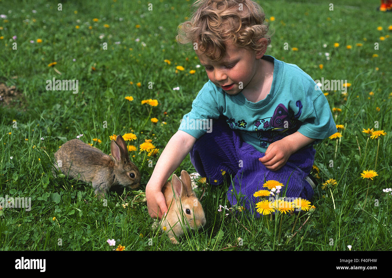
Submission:
[[[317,139],[308,146],[338,132],[326,97],[308,74],[272,56],[264,55],[262,59],[274,63],[271,90],[265,99],[253,103],[241,92],[229,95],[208,81],[178,130],[197,139],[211,132],[211,124],[223,115],[227,125],[240,131],[243,141],[261,153],[269,144],[296,131]]]

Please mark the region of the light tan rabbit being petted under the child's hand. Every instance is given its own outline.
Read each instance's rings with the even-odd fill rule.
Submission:
[[[187,171],[181,171],[181,179],[173,174],[171,182],[167,181],[163,186],[162,193],[169,210],[166,217],[162,217],[160,226],[172,243],[178,243],[175,236],[184,233],[183,227],[197,230],[205,225],[203,207],[192,191],[191,177]]]

